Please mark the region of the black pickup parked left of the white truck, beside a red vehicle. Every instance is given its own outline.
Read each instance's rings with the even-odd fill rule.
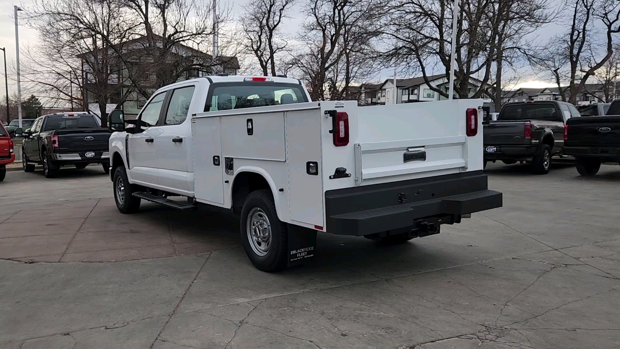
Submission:
[[[38,117],[30,129],[16,129],[22,143],[24,171],[32,172],[43,165],[47,178],[55,178],[61,166],[85,168],[99,163],[105,173],[110,171],[108,129],[103,129],[97,117],[84,113],[58,113]]]

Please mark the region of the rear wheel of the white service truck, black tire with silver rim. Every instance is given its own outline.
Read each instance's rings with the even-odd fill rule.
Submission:
[[[252,229],[253,223],[256,230]],[[252,264],[267,272],[285,269],[287,238],[288,225],[278,219],[271,191],[250,193],[241,209],[241,241]]]

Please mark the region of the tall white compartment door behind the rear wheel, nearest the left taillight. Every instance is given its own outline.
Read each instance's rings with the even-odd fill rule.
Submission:
[[[320,110],[286,112],[288,209],[291,220],[324,227]],[[316,161],[317,176],[306,173]]]

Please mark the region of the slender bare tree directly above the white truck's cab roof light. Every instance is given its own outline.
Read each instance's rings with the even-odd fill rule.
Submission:
[[[276,56],[288,44],[281,24],[292,4],[293,0],[251,1],[241,17],[246,50],[256,57],[265,76],[276,75]]]

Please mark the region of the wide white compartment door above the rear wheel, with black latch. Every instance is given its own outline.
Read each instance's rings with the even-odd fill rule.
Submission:
[[[247,134],[252,119],[254,134]],[[225,116],[222,123],[222,152],[231,158],[286,160],[284,112]]]

